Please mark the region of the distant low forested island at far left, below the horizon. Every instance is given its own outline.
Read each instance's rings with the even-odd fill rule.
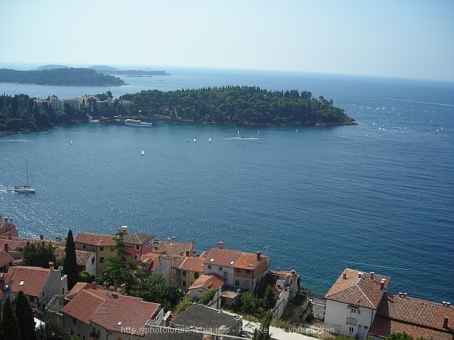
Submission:
[[[126,83],[118,77],[101,74],[94,69],[41,69],[18,71],[0,69],[0,83],[55,86],[120,86]]]

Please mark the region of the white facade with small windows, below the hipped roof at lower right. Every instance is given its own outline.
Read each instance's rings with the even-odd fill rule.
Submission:
[[[325,325],[323,328],[334,334],[365,338],[376,312],[377,310],[366,307],[326,300]]]

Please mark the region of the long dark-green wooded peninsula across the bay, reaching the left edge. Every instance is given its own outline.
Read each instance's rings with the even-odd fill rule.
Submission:
[[[342,108],[311,92],[267,91],[257,86],[223,86],[177,91],[148,90],[112,98],[96,94],[74,110],[54,111],[48,101],[39,108],[26,94],[0,96],[0,132],[43,130],[87,122],[92,118],[125,117],[225,125],[356,125]]]

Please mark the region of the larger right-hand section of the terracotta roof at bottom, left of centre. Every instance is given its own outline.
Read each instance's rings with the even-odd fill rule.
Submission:
[[[160,312],[160,304],[143,301],[140,297],[109,295],[90,318],[109,331],[131,335],[145,335],[145,325]]]

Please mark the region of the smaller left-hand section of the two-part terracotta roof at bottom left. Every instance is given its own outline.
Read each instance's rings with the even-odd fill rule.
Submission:
[[[99,310],[99,307],[101,307],[104,301],[106,301],[106,297],[99,297],[90,293],[88,290],[82,290],[62,308],[61,312],[85,324],[90,324],[90,318]]]

